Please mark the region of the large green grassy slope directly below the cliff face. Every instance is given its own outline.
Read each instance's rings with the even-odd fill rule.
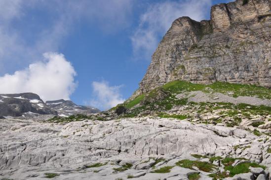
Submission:
[[[211,88],[211,89],[210,89]],[[204,85],[204,84],[194,84],[187,81],[172,81],[164,84],[161,87],[155,88],[149,93],[142,94],[137,96],[135,99],[125,102],[122,106],[128,108],[127,112],[120,114],[119,118],[124,117],[135,117],[138,114],[141,116],[148,115],[150,112],[163,112],[173,108],[174,106],[184,106],[188,105],[190,108],[194,108],[196,105],[199,105],[199,108],[195,109],[198,113],[208,112],[216,109],[226,109],[224,111],[225,116],[230,116],[234,120],[227,124],[229,127],[233,127],[235,125],[239,125],[241,122],[241,118],[237,117],[238,113],[243,114],[245,117],[250,117],[250,115],[268,115],[271,114],[271,107],[268,106],[252,106],[248,104],[238,104],[234,105],[231,103],[188,103],[188,99],[178,99],[176,94],[186,93],[191,91],[203,91],[206,93],[209,92],[220,92],[223,94],[227,94],[228,92],[233,92],[233,97],[238,96],[251,96],[251,97],[259,97],[271,99],[271,89],[267,89],[264,87],[256,86],[256,85],[245,85],[245,84],[231,84],[227,82],[215,82],[213,84]],[[140,104],[139,107],[133,108],[135,105]],[[208,107],[206,109],[205,107]],[[116,108],[115,108],[116,109]],[[149,112],[148,112],[149,111]],[[173,117],[177,119],[185,119],[187,115],[181,114],[158,114],[159,117]],[[220,119],[221,120],[221,119]],[[216,124],[219,123],[219,120],[212,121],[211,123]],[[257,124],[256,124],[257,125]]]

